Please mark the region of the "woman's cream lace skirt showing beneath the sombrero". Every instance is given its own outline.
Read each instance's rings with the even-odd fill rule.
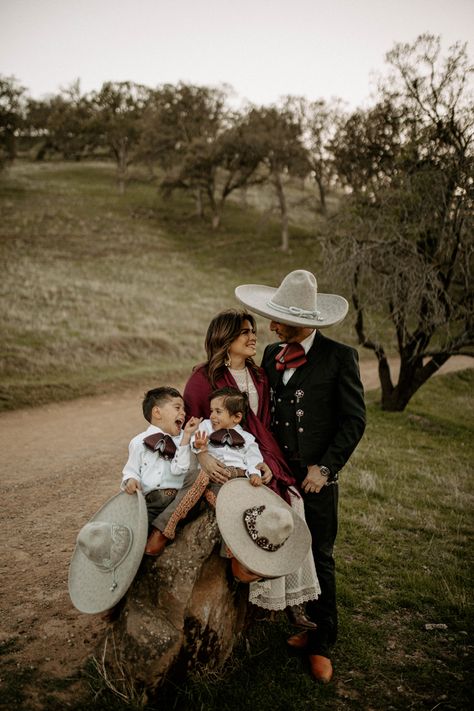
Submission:
[[[303,499],[293,495],[291,488],[289,492],[291,508],[304,519]],[[294,573],[283,578],[250,583],[249,602],[266,610],[284,610],[285,607],[293,607],[308,602],[308,600],[316,600],[320,592],[321,588],[310,549],[301,567]]]

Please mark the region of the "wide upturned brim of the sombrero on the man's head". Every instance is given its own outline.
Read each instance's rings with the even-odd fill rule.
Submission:
[[[286,314],[271,306],[270,301],[277,289],[260,284],[242,284],[235,289],[237,299],[251,311],[288,326],[306,326],[308,328],[327,328],[344,320],[349,310],[347,299],[338,294],[320,294],[317,296],[318,318],[302,318]]]

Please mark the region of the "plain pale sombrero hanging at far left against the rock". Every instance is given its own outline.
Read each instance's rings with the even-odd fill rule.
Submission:
[[[103,612],[125,595],[147,534],[146,504],[139,491],[113,496],[81,528],[69,566],[69,595],[80,612]]]

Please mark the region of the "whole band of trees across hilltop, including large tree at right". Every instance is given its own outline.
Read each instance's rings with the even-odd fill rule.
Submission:
[[[132,163],[151,176],[159,168],[161,188],[192,194],[214,229],[232,192],[266,183],[284,251],[288,179],[314,181],[323,215],[337,187],[341,200],[324,241],[328,269],[351,286],[359,343],[379,362],[382,406],[402,410],[451,355],[471,354],[474,342],[473,67],[465,45],[442,57],[433,35],[395,45],[386,60],[373,106],[352,112],[342,101],[303,97],[236,111],[225,88],[185,83],[106,82],[82,94],[76,82],[35,100],[0,77],[0,167],[19,143],[36,160],[106,154],[122,192]],[[384,329],[370,318],[383,309],[401,358],[397,383]]]

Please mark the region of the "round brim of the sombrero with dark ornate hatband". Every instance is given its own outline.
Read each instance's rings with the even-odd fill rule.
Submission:
[[[243,520],[244,511],[262,504],[285,508],[293,517],[293,533],[273,552],[259,548],[252,541]],[[235,558],[262,577],[276,578],[297,570],[311,547],[311,533],[301,516],[271,489],[252,486],[248,479],[231,479],[221,487],[216,518],[221,536]]]

